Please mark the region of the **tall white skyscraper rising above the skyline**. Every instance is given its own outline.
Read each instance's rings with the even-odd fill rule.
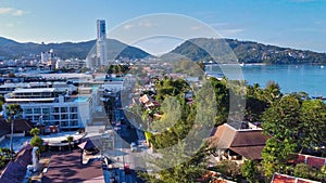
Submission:
[[[96,67],[102,67],[106,65],[106,29],[105,29],[105,21],[98,19],[97,21],[97,60]]]

